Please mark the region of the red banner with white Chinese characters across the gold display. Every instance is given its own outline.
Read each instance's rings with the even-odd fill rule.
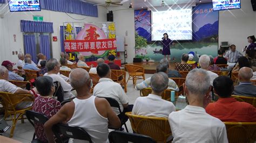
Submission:
[[[65,40],[64,45],[66,52],[97,52],[117,49],[117,40]]]

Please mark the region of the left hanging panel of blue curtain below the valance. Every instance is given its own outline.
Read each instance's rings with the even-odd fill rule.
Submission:
[[[31,55],[31,60],[36,62],[36,37],[35,35],[24,35],[25,53]]]

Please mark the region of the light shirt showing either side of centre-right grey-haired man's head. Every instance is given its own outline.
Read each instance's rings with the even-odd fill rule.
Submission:
[[[136,90],[142,90],[144,88],[149,88],[150,87],[150,78],[146,78],[145,81],[136,84],[135,89]],[[169,83],[168,83],[168,88],[167,89],[171,89],[174,91],[179,91],[178,85],[171,79],[169,79]]]

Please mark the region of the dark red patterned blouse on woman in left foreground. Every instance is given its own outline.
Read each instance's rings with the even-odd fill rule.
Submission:
[[[51,118],[60,109],[60,102],[50,97],[38,96],[33,104],[33,111],[42,113],[43,115]],[[47,138],[44,132],[44,126],[42,124],[35,123],[35,133],[37,139],[43,142],[47,142]]]

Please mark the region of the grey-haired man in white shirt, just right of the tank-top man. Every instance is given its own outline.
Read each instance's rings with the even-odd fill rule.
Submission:
[[[152,93],[145,97],[138,97],[134,102],[132,114],[141,116],[156,116],[168,118],[169,114],[176,111],[172,102],[161,98],[168,87],[169,78],[166,73],[158,72],[150,79]]]

